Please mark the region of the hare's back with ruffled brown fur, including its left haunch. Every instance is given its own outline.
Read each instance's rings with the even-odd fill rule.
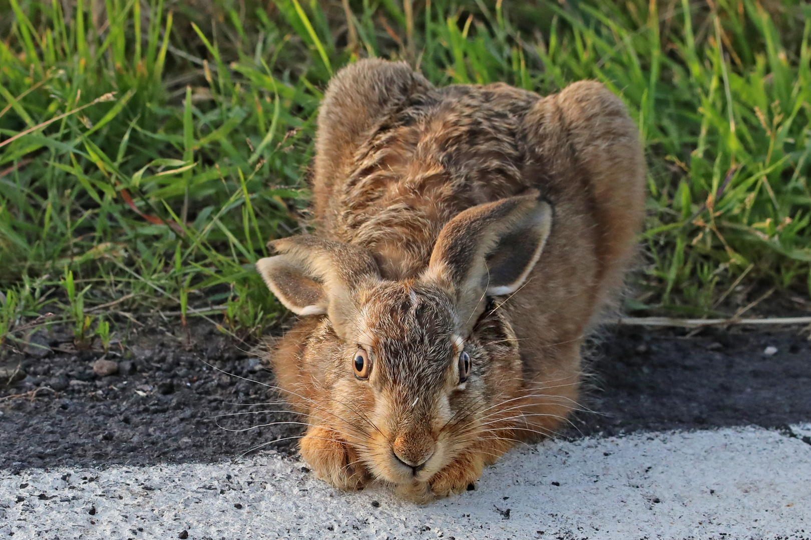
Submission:
[[[520,126],[537,100],[501,83],[435,88],[405,64],[345,68],[319,117],[320,234],[398,259],[405,249],[418,270],[453,215],[529,187]]]

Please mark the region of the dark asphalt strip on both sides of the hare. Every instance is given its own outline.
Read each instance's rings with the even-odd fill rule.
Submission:
[[[165,330],[131,336],[105,356],[118,363],[112,376],[93,372],[101,351],[72,351],[57,330],[34,339],[55,350],[0,360],[27,374],[11,386],[0,381],[0,468],[217,461],[260,445],[294,452],[302,427],[284,423],[296,418],[277,412],[285,407],[260,384],[271,373],[213,327],[197,326],[191,339]],[[811,421],[807,330],[685,334],[603,330],[583,398],[596,412],[578,413],[562,435]],[[217,418],[230,413],[245,414]]]

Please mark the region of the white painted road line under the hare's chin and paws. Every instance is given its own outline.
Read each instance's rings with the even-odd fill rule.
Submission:
[[[302,466],[0,472],[0,537],[811,538],[811,444],[756,427],[547,441],[423,507]]]

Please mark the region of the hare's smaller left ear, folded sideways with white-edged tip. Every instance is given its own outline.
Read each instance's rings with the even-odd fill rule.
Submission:
[[[345,325],[354,313],[354,291],[380,272],[367,249],[303,235],[273,240],[279,255],[256,262],[256,270],[279,301],[298,315],[328,314]]]

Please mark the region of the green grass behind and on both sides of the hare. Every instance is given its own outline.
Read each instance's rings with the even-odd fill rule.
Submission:
[[[115,302],[114,321],[261,334],[281,308],[252,263],[306,227],[320,98],[367,56],[436,84],[597,79],[621,96],[649,163],[629,309],[711,315],[740,285],[808,295],[802,2],[163,2],[0,0],[0,340],[44,311],[84,324],[68,270],[81,309]]]

